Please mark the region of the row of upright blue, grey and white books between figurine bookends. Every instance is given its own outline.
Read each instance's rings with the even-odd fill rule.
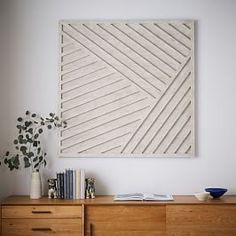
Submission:
[[[66,169],[57,173],[57,197],[61,199],[85,198],[85,172]]]

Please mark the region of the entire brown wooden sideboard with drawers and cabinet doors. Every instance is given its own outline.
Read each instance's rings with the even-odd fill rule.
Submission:
[[[200,202],[193,196],[174,201],[114,202],[112,196],[88,200],[2,202],[2,236],[236,236],[236,196]]]

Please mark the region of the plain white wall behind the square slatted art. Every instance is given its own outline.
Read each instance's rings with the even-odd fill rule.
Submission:
[[[55,135],[44,176],[85,168],[98,194],[150,191],[191,194],[223,186],[236,194],[236,1],[234,0],[10,0],[10,76],[1,78],[1,151],[26,109],[57,111],[58,20],[195,19],[196,158],[58,158]],[[3,101],[4,98],[5,99]],[[6,119],[7,114],[7,121]],[[27,194],[29,172],[1,170],[1,196]],[[6,181],[7,180],[7,181]]]

